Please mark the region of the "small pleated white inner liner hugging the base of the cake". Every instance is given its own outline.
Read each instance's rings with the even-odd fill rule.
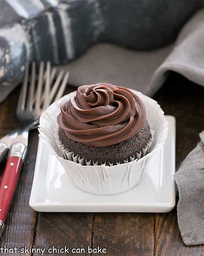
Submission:
[[[85,166],[85,165],[113,166],[113,163],[110,163],[109,161],[105,161],[102,163],[100,160],[97,160],[96,162],[94,162],[93,159],[87,160],[85,157],[81,157],[79,154],[77,155],[73,151],[69,151],[69,149],[65,148],[65,146],[62,144],[62,141],[60,140],[59,135],[58,135],[58,130],[59,129],[56,129],[55,133],[54,133],[55,142],[58,146],[58,149],[60,151],[62,151],[62,155],[63,155],[64,159],[79,163],[83,166]],[[154,130],[150,129],[150,133],[151,133],[151,138],[147,142],[145,148],[142,148],[142,151],[140,150],[139,153],[136,152],[135,154],[131,154],[127,158],[123,159],[124,163],[132,162],[134,160],[138,161],[141,158],[141,155],[145,156],[146,154],[149,153],[152,141],[154,140]],[[119,162],[116,161],[116,165],[118,165],[118,164],[121,164],[120,161]]]

